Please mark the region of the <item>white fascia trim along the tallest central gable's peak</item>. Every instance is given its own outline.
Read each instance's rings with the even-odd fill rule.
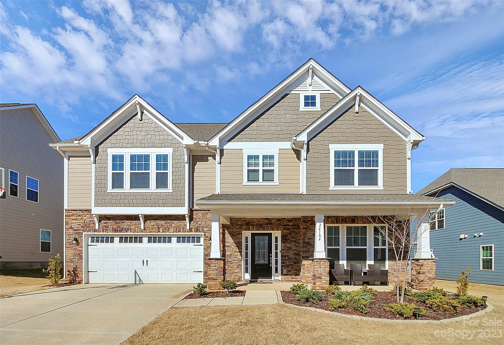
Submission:
[[[281,91],[283,88],[285,88],[287,85],[295,81],[296,79],[302,77],[306,72],[309,70],[309,66],[313,66],[316,68],[317,72],[320,73],[321,75],[324,75],[326,78],[332,80],[335,84],[337,84],[339,87],[341,87],[343,90],[348,90],[350,92],[350,89],[346,87],[344,84],[342,84],[339,80],[337,80],[335,77],[332,75],[328,74],[325,70],[324,67],[322,67],[320,64],[318,64],[315,60],[309,59],[306,61],[302,66],[300,66],[296,71],[294,71],[289,77],[284,79],[280,84],[278,84],[276,87],[274,87],[272,90],[270,90],[266,95],[261,97],[257,102],[255,102],[253,105],[248,107],[244,112],[242,112],[238,117],[236,117],[234,120],[229,122],[224,128],[222,128],[217,134],[215,134],[212,139],[208,142],[209,145],[211,146],[216,146],[219,145],[221,142],[221,139],[226,139],[226,134],[229,132],[235,132],[239,129],[241,129],[244,125],[247,124],[245,121],[244,123],[240,122],[245,119],[247,116],[250,114],[254,113],[256,110],[260,109],[261,107],[267,108],[274,102],[276,102],[277,99],[279,99],[282,95],[277,95],[275,99],[268,101],[273,95],[275,95],[277,92]],[[339,95],[340,97],[343,95]],[[266,105],[265,105],[266,103]],[[238,126],[238,128],[234,128],[235,126]],[[229,137],[230,135],[227,135]]]

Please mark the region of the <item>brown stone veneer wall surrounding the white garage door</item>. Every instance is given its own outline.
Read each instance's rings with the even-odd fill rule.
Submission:
[[[65,244],[66,244],[66,267],[65,271],[77,267],[79,281],[82,281],[82,248],[83,232],[97,233],[203,233],[203,257],[210,256],[210,244],[207,239],[211,236],[212,218],[209,211],[195,210],[191,212],[190,229],[187,230],[185,217],[179,216],[145,216],[144,230],[140,227],[138,216],[102,216],[99,219],[100,228],[95,229],[95,222],[91,215],[91,210],[66,210],[65,211]],[[77,237],[79,244],[72,243]],[[223,266],[223,263],[220,267]],[[204,282],[210,279],[219,278],[222,280],[223,273],[218,272],[219,268],[209,259],[203,262]]]

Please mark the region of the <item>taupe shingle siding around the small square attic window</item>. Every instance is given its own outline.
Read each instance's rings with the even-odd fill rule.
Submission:
[[[256,120],[245,126],[229,141],[233,142],[285,142],[335,105],[335,94],[321,94],[321,110],[299,110],[299,94],[285,94]]]

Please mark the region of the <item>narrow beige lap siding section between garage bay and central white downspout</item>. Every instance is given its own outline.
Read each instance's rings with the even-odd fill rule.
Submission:
[[[215,193],[215,156],[192,155],[193,200]]]

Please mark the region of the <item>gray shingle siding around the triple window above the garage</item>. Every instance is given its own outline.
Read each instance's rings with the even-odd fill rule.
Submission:
[[[107,192],[109,148],[172,148],[173,192]],[[125,162],[126,163],[126,162]],[[182,144],[148,115],[136,116],[96,146],[95,206],[99,207],[180,207],[185,201],[185,163]]]

